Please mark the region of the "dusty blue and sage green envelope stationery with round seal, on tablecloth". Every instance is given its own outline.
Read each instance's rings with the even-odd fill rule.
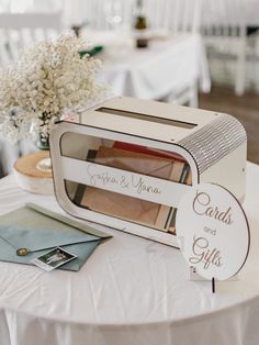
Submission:
[[[60,246],[77,256],[60,269],[77,271],[108,237],[111,236],[30,203],[0,216],[0,260],[32,265],[33,258]],[[29,249],[29,254],[19,256],[19,248]]]

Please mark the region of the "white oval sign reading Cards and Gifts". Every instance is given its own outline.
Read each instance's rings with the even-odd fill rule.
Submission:
[[[183,196],[176,230],[188,264],[206,279],[227,279],[246,261],[250,244],[246,214],[218,185],[196,185]]]

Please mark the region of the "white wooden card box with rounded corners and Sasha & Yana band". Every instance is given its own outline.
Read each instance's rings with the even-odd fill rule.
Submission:
[[[178,246],[178,203],[191,185],[245,197],[247,137],[233,116],[114,98],[50,134],[55,193],[68,213]]]

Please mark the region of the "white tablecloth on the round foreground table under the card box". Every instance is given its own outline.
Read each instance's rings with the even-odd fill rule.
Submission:
[[[247,165],[251,249],[237,281],[189,281],[178,249],[120,231],[79,272],[0,263],[2,345],[256,345],[259,343],[259,166]],[[54,197],[0,180],[0,213]],[[99,225],[100,229],[104,229]],[[22,242],[22,238],[21,238]]]

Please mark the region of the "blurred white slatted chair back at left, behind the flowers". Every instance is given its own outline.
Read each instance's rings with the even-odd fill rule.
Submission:
[[[61,27],[61,12],[0,13],[0,66],[15,62],[33,42],[56,36]]]

